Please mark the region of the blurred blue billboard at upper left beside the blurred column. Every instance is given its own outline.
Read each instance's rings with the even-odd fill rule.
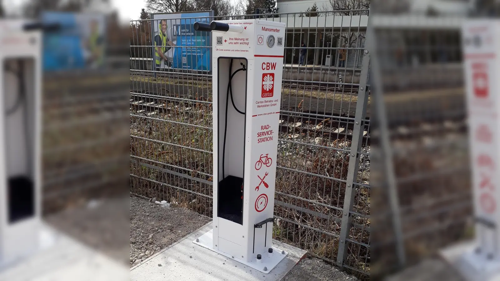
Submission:
[[[97,69],[105,58],[105,15],[46,11],[45,23],[59,23],[57,32],[43,34],[43,70]]]

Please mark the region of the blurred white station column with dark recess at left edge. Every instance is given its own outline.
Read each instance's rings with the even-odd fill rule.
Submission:
[[[41,30],[0,20],[0,269],[39,249]]]

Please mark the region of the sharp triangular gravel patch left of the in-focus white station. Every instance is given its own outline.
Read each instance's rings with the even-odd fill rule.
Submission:
[[[210,221],[185,208],[130,197],[130,267]]]

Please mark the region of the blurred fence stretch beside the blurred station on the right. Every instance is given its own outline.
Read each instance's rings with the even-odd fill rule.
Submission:
[[[375,275],[470,234],[471,188],[460,19],[372,19],[382,103],[374,106],[373,140],[383,163],[372,182]]]

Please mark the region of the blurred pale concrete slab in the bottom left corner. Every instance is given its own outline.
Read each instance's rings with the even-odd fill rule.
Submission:
[[[107,281],[128,280],[129,270],[111,258],[43,225],[41,248],[8,267],[0,280],[8,281]]]

